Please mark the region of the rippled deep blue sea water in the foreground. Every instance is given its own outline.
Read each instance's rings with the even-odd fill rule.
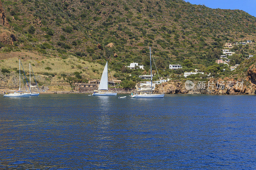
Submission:
[[[1,97],[0,169],[256,169],[255,104],[253,95]]]

